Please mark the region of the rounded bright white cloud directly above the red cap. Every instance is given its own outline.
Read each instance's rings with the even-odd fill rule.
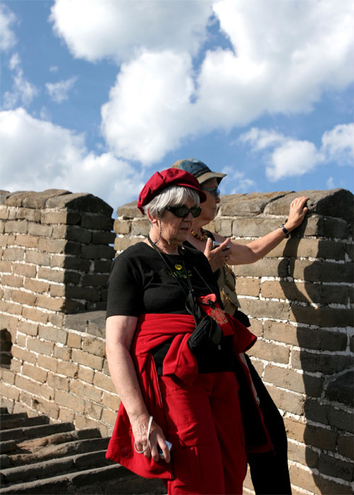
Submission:
[[[101,110],[103,135],[117,156],[159,161],[193,131],[185,123],[193,95],[190,70],[190,57],[173,52],[145,52],[122,65]]]

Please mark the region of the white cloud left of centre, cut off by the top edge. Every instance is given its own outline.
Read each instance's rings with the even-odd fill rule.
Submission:
[[[212,1],[56,0],[50,21],[74,57],[117,62],[140,50],[196,53]]]

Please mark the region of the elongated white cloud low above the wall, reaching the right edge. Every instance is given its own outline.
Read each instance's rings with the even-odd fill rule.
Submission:
[[[354,124],[340,124],[324,132],[319,149],[309,141],[254,127],[241,134],[239,141],[250,144],[253,152],[263,153],[265,173],[271,181],[304,175],[329,161],[338,165],[354,164]]]

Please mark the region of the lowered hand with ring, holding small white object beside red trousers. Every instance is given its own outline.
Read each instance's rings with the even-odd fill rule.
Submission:
[[[132,425],[132,433],[135,438],[135,447],[139,451],[144,450],[147,447],[149,419],[150,417],[148,414],[141,414],[139,417],[137,417],[137,419],[130,420],[130,424]],[[166,460],[166,462],[170,462],[171,455],[165,440],[166,438],[164,436],[164,432],[162,431],[161,427],[153,420],[149,434],[149,446],[147,450],[144,451],[144,456],[147,458],[152,456],[155,462],[160,460],[159,452],[157,450],[157,446],[159,445],[162,453],[164,454],[164,460]]]

